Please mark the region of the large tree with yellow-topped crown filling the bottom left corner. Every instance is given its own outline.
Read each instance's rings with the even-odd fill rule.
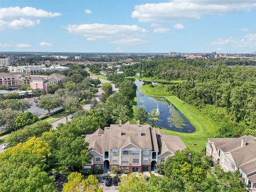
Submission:
[[[0,191],[56,191],[54,179],[43,170],[50,146],[41,138],[7,148],[0,154]]]

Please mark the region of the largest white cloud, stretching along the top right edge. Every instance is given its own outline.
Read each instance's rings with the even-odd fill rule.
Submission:
[[[173,22],[189,19],[199,19],[209,14],[226,14],[240,11],[250,11],[256,7],[256,2],[243,1],[200,1],[173,0],[166,3],[146,3],[136,5],[131,16],[140,22]]]

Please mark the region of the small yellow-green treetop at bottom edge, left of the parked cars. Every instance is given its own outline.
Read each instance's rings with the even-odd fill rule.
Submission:
[[[93,175],[89,175],[84,179],[81,173],[73,172],[68,175],[68,182],[63,185],[63,192],[80,192],[80,191],[94,191],[101,192],[102,188],[98,186],[98,179]]]

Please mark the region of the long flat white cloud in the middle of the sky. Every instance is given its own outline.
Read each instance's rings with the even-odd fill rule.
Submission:
[[[114,44],[132,44],[143,42],[140,39],[145,36],[148,31],[137,25],[107,25],[101,23],[68,25],[66,29],[71,34],[83,35],[87,41],[96,39],[114,39]],[[139,41],[140,39],[140,41]],[[119,42],[119,43],[117,43]]]

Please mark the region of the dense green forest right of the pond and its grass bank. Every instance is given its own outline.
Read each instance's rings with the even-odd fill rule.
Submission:
[[[142,77],[185,80],[169,84],[167,91],[197,108],[217,107],[231,123],[222,125],[218,137],[256,135],[256,68],[211,65],[202,60],[163,59],[140,62],[124,70]],[[224,113],[224,112],[223,112]]]

